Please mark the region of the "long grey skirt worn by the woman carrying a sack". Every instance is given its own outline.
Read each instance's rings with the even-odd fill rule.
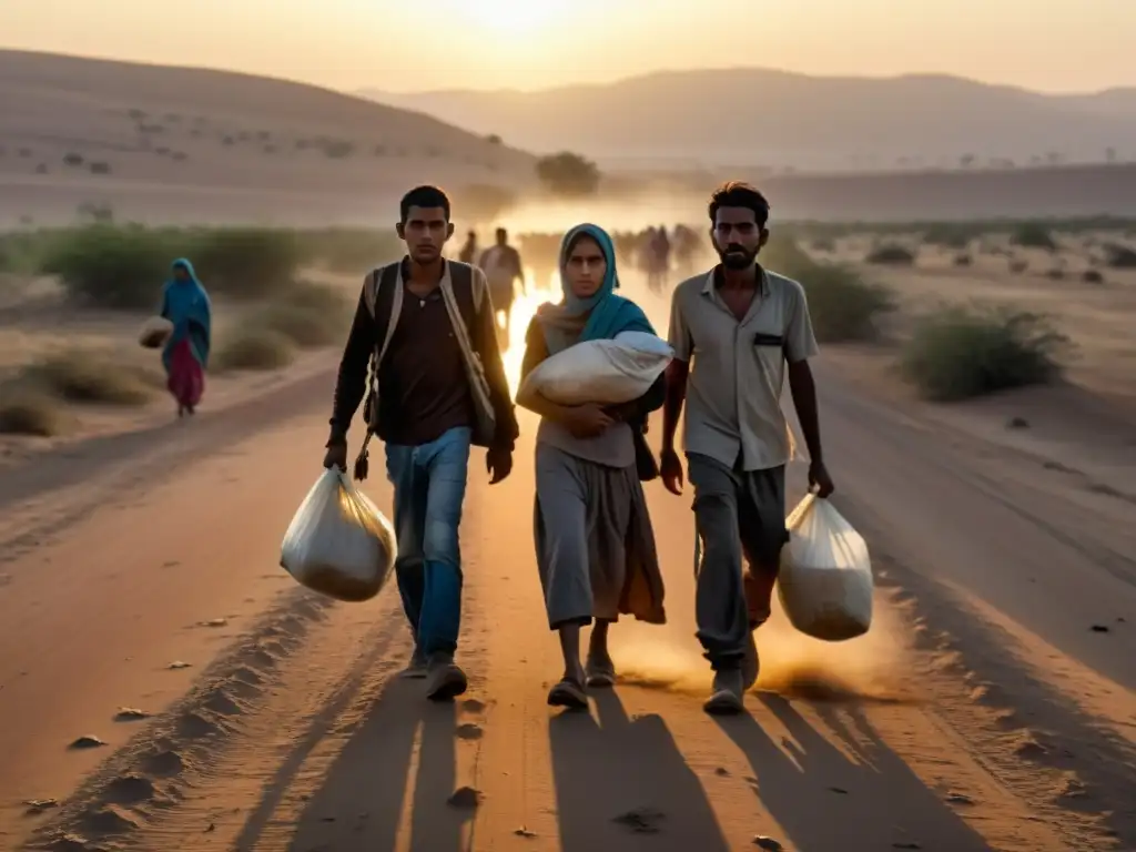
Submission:
[[[662,574],[635,466],[585,461],[536,445],[536,565],[549,626],[665,624]]]

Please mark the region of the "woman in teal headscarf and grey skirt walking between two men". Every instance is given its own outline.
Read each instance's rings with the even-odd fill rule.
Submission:
[[[616,294],[611,237],[595,225],[569,231],[560,249],[563,301],[544,304],[526,336],[521,375],[550,354],[621,332],[654,334],[634,302]],[[660,408],[660,377],[626,406],[560,406],[540,395],[517,403],[541,416],[536,434],[536,560],[549,626],[560,634],[565,674],[549,693],[557,707],[587,707],[585,686],[611,686],[608,627],[620,613],[663,624],[662,575],[641,478],[658,474],[643,432]],[[579,632],[592,621],[587,662]]]

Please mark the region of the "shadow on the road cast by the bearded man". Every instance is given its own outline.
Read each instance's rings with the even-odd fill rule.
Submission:
[[[786,738],[778,745],[749,713],[718,717],[717,721],[749,759],[757,779],[755,794],[788,835],[783,841],[809,852],[991,850],[875,734],[860,711],[851,710],[861,737],[846,732],[841,737],[857,755],[853,761],[785,699],[763,695],[762,701],[788,729],[792,741]]]

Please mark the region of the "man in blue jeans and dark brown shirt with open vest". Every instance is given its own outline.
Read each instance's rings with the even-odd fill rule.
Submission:
[[[402,199],[408,254],[367,276],[340,362],[326,467],[346,469],[348,428],[367,392],[368,429],[386,444],[399,543],[395,576],[415,637],[406,674],[443,700],[466,691],[454,663],[461,623],[458,527],[470,445],[486,446],[491,483],[512,469],[517,419],[479,269],[442,257],[450,200],[434,186]],[[366,456],[360,457],[360,461]],[[357,475],[362,471],[358,469]]]

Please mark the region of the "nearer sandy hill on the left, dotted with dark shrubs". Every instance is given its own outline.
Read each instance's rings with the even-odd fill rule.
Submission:
[[[414,183],[527,185],[533,165],[317,86],[0,50],[0,222],[58,220],[82,202],[148,220],[383,220]]]

